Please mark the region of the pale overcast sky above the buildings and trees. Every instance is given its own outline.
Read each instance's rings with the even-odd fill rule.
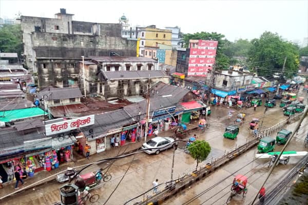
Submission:
[[[308,0],[303,1],[11,1],[0,0],[0,16],[54,17],[66,8],[74,20],[118,23],[125,14],[132,26],[179,26],[184,33],[218,32],[228,40],[256,38],[264,31],[302,43],[308,37]]]

